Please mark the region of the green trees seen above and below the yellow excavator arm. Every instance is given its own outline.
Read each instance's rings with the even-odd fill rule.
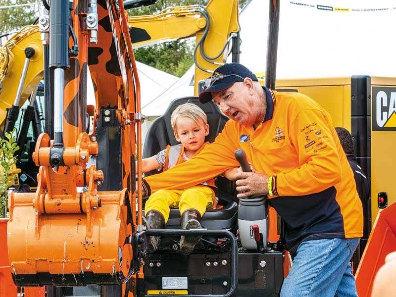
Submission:
[[[240,0],[240,9],[249,0]],[[208,0],[159,0],[155,4],[130,9],[129,15],[149,15],[167,7],[184,5],[206,5]],[[191,40],[177,40],[134,49],[136,60],[168,72],[178,77],[182,76],[194,64],[193,52],[195,43]]]

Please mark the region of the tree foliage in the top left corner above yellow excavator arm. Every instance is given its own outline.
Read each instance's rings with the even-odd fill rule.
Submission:
[[[26,4],[32,0],[0,0],[0,6],[14,4]],[[12,8],[0,8],[0,35],[15,32],[23,26],[31,25],[38,16],[39,4],[30,6],[19,6]]]

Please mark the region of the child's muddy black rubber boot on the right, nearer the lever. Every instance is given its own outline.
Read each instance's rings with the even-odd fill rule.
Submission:
[[[180,218],[181,229],[201,229],[201,215],[195,209],[189,209],[182,213]],[[194,247],[201,240],[200,235],[188,235],[180,238],[180,253],[183,255],[190,254]]]

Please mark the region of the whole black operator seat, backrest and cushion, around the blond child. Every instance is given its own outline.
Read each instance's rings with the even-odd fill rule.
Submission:
[[[160,150],[166,148],[167,145],[174,146],[180,144],[176,141],[173,134],[170,118],[173,110],[175,110],[177,106],[187,102],[197,104],[206,113],[209,124],[209,134],[206,136],[205,141],[210,143],[213,142],[217,134],[223,130],[225,123],[229,120],[227,116],[221,113],[218,106],[213,101],[201,104],[198,101],[198,97],[175,99],[169,104],[165,113],[156,118],[148,128],[143,148],[143,158],[155,155]],[[146,173],[146,176],[159,172],[160,171],[152,170]],[[215,190],[216,197],[219,198],[218,207],[217,209],[206,210],[202,217],[201,224],[203,227],[209,229],[222,228],[231,230],[236,225],[238,209],[238,199],[234,195],[234,182],[219,176],[216,180],[216,186],[218,187],[218,189]],[[166,228],[180,228],[180,211],[178,208],[171,208]]]

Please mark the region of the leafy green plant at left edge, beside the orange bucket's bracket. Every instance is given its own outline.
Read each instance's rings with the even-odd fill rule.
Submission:
[[[4,214],[7,205],[8,173],[16,164],[15,152],[19,147],[13,137],[15,132],[5,133],[5,138],[0,141],[0,217]]]

